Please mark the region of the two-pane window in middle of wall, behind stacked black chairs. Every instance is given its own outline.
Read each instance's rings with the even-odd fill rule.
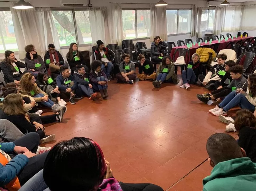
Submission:
[[[122,10],[125,39],[149,37],[150,10]]]

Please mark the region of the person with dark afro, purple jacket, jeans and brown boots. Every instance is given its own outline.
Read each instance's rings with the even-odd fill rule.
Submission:
[[[92,62],[92,71],[89,74],[92,87],[95,91],[101,93],[101,97],[104,99],[108,97],[107,92],[107,76],[104,71],[101,70],[101,61],[94,60]]]

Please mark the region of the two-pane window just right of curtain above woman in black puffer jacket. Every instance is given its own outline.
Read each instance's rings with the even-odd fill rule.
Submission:
[[[167,34],[190,33],[192,10],[167,10]]]

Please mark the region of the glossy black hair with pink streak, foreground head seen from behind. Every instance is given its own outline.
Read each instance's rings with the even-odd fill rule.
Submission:
[[[51,191],[66,188],[89,191],[102,183],[106,170],[98,143],[89,138],[74,137],[56,144],[49,151],[43,177]]]

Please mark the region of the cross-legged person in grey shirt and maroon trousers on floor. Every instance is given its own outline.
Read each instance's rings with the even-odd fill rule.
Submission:
[[[120,73],[116,74],[116,82],[134,84],[136,79],[135,64],[130,61],[129,54],[122,55],[123,61],[119,64]]]

